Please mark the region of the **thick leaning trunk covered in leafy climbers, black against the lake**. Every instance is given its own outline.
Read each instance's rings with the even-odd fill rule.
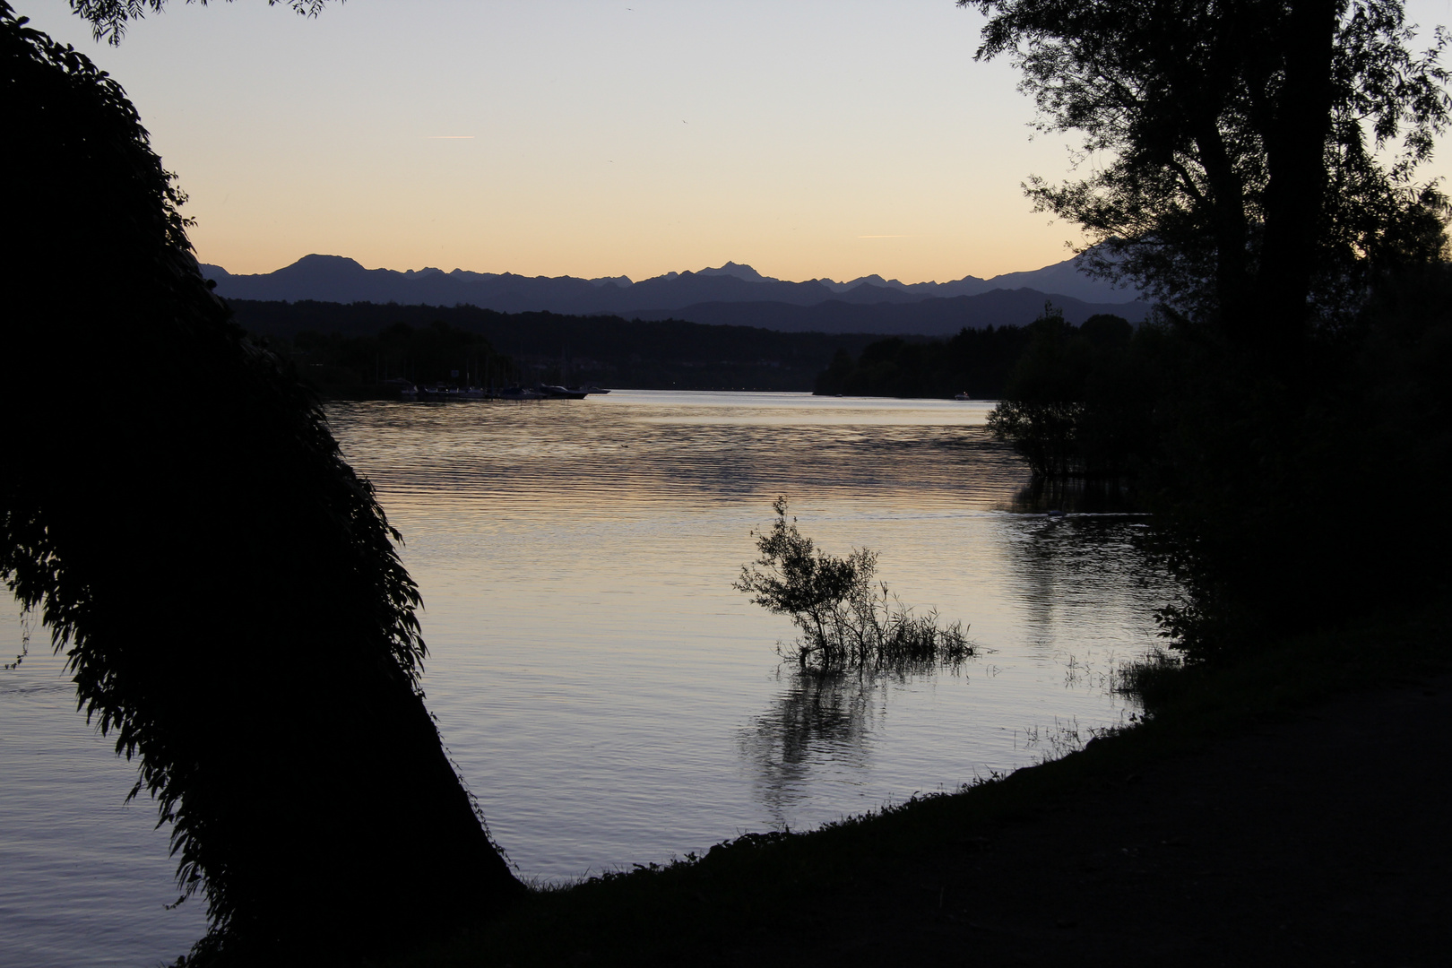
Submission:
[[[424,708],[372,488],[209,292],[122,89],[3,0],[0,62],[0,573],[139,759],[206,897],[199,961],[334,964],[489,914],[523,888]]]

